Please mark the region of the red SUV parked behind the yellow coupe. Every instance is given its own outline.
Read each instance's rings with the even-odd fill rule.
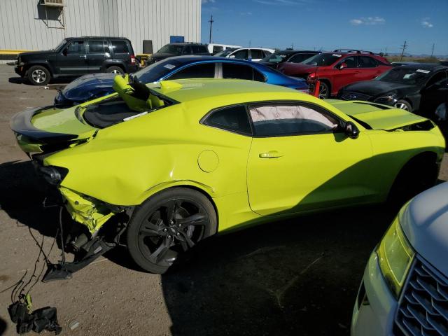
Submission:
[[[288,76],[312,82],[321,80],[319,98],[335,96],[340,88],[360,80],[371,80],[391,69],[387,59],[370,51],[335,50],[305,59],[302,63],[284,62],[279,70]]]

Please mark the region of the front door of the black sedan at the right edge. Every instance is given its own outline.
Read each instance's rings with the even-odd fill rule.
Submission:
[[[448,74],[446,70],[442,70],[433,74],[421,90],[420,112],[428,118],[437,120],[434,115],[435,109],[447,101]]]

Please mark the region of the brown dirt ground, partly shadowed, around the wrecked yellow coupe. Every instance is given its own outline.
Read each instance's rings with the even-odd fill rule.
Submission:
[[[29,278],[34,239],[48,251],[58,223],[57,211],[41,206],[44,188],[9,120],[52,104],[55,93],[0,65],[0,335],[15,335],[7,288]],[[348,335],[365,262],[393,216],[363,207],[261,225],[205,241],[188,265],[163,276],[141,272],[118,248],[71,280],[37,282],[34,307],[57,307],[62,335]],[[57,248],[50,258],[58,260]]]

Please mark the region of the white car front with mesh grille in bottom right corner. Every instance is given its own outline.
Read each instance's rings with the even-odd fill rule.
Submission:
[[[351,335],[448,335],[448,182],[405,204],[370,255]]]

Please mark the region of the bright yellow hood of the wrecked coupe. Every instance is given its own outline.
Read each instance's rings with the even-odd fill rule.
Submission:
[[[399,127],[422,123],[428,119],[402,109],[370,102],[345,101],[325,99],[325,102],[335,106],[354,120],[366,123],[376,130],[395,130]]]

